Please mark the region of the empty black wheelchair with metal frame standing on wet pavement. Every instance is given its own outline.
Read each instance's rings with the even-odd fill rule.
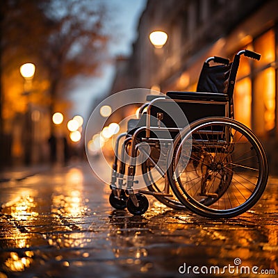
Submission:
[[[129,120],[126,133],[116,140],[111,206],[142,215],[149,207],[145,195],[153,195],[170,208],[232,218],[258,202],[268,181],[265,150],[247,126],[234,120],[242,55],[261,58],[247,49],[231,63],[210,57],[197,92],[147,96],[139,119]]]

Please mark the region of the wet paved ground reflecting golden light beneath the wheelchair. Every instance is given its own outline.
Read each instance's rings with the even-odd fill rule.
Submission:
[[[224,267],[236,258],[277,273],[277,183],[270,179],[251,211],[217,221],[152,198],[143,216],[113,211],[110,189],[88,165],[0,183],[0,278],[185,277],[183,263]]]

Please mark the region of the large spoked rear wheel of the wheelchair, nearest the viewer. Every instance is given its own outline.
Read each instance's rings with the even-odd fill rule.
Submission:
[[[192,143],[192,151],[186,145]],[[174,140],[167,171],[174,194],[194,213],[231,218],[259,200],[268,181],[261,142],[244,124],[223,117],[197,120]],[[183,165],[183,157],[189,162]]]

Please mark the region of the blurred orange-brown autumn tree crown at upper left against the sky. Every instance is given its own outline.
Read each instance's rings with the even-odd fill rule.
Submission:
[[[33,60],[40,72],[36,80],[49,84],[38,90],[49,92],[47,105],[52,113],[57,98],[65,95],[76,77],[99,74],[109,39],[104,33],[106,16],[98,0],[4,0],[0,8],[1,79]],[[3,96],[0,86],[1,134]]]

